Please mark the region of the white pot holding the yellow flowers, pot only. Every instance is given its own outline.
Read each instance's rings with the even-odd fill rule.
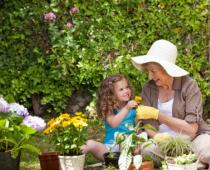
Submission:
[[[61,170],[83,170],[85,155],[58,156]]]

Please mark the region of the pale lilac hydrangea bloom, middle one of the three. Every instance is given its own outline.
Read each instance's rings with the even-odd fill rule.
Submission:
[[[18,103],[10,103],[8,107],[9,107],[8,109],[9,112],[16,113],[22,117],[26,117],[29,115],[27,108]]]

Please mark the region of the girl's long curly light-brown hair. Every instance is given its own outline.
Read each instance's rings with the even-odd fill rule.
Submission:
[[[103,80],[96,98],[96,107],[100,118],[105,118],[107,114],[112,114],[114,109],[119,108],[114,93],[114,84],[121,80],[127,81],[128,87],[131,89],[131,96],[133,96],[133,88],[124,75],[117,74],[107,77]]]

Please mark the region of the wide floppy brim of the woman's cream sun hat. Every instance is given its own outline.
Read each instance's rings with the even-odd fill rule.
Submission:
[[[132,64],[140,71],[142,71],[142,64],[155,62],[160,64],[171,77],[182,77],[189,74],[189,72],[173,63],[158,60],[157,57],[150,55],[132,57],[131,61]]]

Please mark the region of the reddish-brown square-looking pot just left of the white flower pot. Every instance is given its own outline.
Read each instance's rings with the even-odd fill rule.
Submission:
[[[60,170],[57,152],[46,152],[39,155],[41,170]]]

